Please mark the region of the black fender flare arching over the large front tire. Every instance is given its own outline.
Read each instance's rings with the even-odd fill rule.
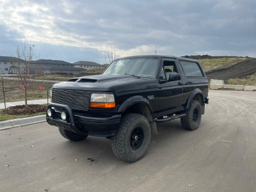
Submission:
[[[138,103],[145,104],[152,114],[152,107],[150,106],[150,103],[147,99],[145,99],[145,97],[142,97],[141,95],[132,96],[126,99],[118,109],[118,113],[124,113],[130,106]]]

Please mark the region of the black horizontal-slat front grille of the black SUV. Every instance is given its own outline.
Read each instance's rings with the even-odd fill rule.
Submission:
[[[64,104],[71,109],[88,110],[90,92],[81,90],[52,89],[52,102]]]

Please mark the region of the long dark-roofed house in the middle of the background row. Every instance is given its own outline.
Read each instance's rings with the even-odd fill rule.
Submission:
[[[31,74],[42,73],[42,74],[76,74],[86,69],[74,67],[72,63],[61,60],[36,60],[33,61],[34,68],[31,70]]]

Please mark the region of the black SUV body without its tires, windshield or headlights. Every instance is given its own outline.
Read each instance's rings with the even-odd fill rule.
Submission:
[[[138,59],[156,60],[154,76],[103,73],[54,84],[52,103],[47,107],[52,115],[47,115],[47,122],[79,135],[111,138],[118,131],[122,117],[128,113],[145,116],[151,129],[156,129],[156,122],[186,115],[193,100],[198,100],[200,113],[204,114],[209,89],[207,77],[198,61],[152,55],[119,58],[111,65]],[[92,93],[112,93],[115,108],[91,108]],[[61,119],[63,111],[67,120]]]

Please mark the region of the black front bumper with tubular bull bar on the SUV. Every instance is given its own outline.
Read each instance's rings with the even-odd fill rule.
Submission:
[[[83,113],[73,113],[72,109],[63,104],[51,103],[47,109],[54,108],[52,116],[46,115],[48,124],[61,127],[77,134],[89,136],[113,136],[120,124],[121,115],[89,116]],[[60,113],[68,114],[67,121],[61,120]]]

